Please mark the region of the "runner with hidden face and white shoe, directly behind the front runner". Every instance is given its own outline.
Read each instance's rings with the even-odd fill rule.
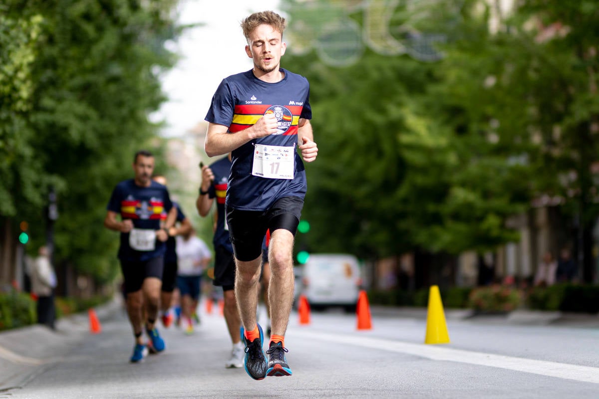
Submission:
[[[226,326],[233,348],[231,358],[225,362],[227,368],[243,367],[243,344],[239,336],[241,320],[235,300],[235,261],[229,239],[229,227],[225,220],[225,195],[231,172],[231,154],[210,166],[202,166],[202,183],[196,200],[196,208],[202,217],[208,215],[216,198],[216,229],[214,229],[214,279],[212,284],[223,288]]]

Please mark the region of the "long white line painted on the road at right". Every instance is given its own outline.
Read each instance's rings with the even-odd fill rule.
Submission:
[[[599,368],[597,367],[577,366],[575,364],[486,354],[483,352],[464,351],[462,349],[452,349],[443,346],[407,343],[364,336],[313,333],[310,331],[301,331],[299,334],[301,334],[302,338],[345,343],[348,345],[362,346],[364,348],[384,348],[386,351],[415,355],[432,360],[477,364],[479,366],[506,368],[507,370],[523,371],[524,373],[540,374],[542,376],[599,383]]]

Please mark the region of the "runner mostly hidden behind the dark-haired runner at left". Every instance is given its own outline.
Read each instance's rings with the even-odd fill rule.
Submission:
[[[155,175],[152,179],[162,185],[167,185],[167,178],[163,175]],[[162,271],[162,288],[160,293],[160,316],[162,325],[165,328],[170,327],[174,319],[174,315],[170,309],[173,303],[173,291],[177,287],[177,269],[179,268],[177,265],[177,242],[175,237],[187,234],[192,229],[189,219],[183,214],[179,204],[173,201],[173,206],[177,208],[175,222],[179,222],[179,226],[175,224],[167,230],[167,251],[164,254],[164,270]],[[164,223],[167,220],[167,212],[162,212],[161,219],[161,227],[164,227]]]

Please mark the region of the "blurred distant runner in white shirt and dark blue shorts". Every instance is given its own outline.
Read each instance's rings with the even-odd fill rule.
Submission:
[[[204,241],[195,236],[195,230],[177,236],[177,287],[181,294],[181,320],[186,334],[193,333],[192,315],[198,307],[202,273],[212,257]]]

